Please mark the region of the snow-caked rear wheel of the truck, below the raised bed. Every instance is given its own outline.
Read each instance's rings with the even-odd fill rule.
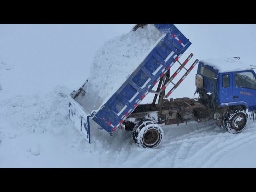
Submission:
[[[143,120],[134,126],[132,138],[140,148],[157,148],[164,138],[164,131],[156,122]]]

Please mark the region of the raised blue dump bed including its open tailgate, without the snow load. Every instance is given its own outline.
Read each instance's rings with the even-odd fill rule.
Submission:
[[[106,100],[99,108],[87,107],[90,103],[86,98],[86,91],[90,85],[88,81],[71,94],[70,120],[88,142],[90,142],[90,118],[108,133],[113,134],[191,45],[191,42],[173,24],[153,26],[162,36],[153,47],[148,48],[147,56],[142,58],[142,62],[138,63],[129,77],[120,83],[122,85],[118,90],[106,96]],[[116,79],[116,81],[120,80]]]

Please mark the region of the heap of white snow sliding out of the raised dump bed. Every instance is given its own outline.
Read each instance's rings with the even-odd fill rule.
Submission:
[[[88,111],[97,110],[122,86],[146,58],[163,35],[148,24],[106,42],[94,56],[88,78],[86,101]]]

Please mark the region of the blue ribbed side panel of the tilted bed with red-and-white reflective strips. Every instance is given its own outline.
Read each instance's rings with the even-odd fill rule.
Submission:
[[[163,34],[166,33],[166,36],[93,117],[93,120],[109,133],[116,130],[133,112],[160,77],[191,45],[191,42],[173,24],[155,24],[155,26]]]

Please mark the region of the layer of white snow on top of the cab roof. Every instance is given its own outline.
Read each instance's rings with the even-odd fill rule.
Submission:
[[[220,73],[250,70],[252,67],[249,64],[244,64],[236,58],[217,58],[217,59],[205,59],[200,62],[205,65],[213,66]]]

